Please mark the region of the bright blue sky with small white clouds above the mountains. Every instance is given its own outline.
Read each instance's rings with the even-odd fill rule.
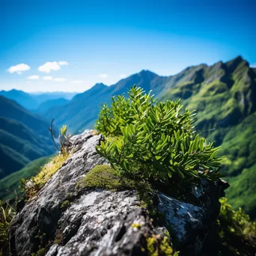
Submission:
[[[0,89],[85,91],[237,55],[254,65],[255,13],[255,0],[2,0]]]

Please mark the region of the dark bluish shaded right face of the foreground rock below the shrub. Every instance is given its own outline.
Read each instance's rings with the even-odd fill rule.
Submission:
[[[183,255],[201,255],[207,234],[219,215],[219,197],[226,183],[201,181],[190,187],[191,203],[179,201],[159,192],[158,210],[165,214],[165,222],[176,240],[176,249]]]

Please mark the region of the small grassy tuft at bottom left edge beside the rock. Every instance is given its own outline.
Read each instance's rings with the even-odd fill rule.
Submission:
[[[0,200],[0,255],[8,251],[8,228],[16,211],[7,201]]]

